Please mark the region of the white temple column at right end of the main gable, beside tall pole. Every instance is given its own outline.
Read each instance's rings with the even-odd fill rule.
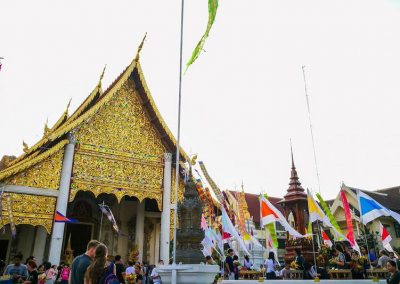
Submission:
[[[161,240],[160,240],[160,259],[164,264],[169,261],[169,226],[171,211],[171,173],[172,173],[172,154],[164,154],[164,191],[163,191],[163,210],[161,212]],[[158,261],[158,260],[157,260]]]

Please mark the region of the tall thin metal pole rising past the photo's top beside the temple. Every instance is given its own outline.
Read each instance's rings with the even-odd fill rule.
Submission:
[[[174,240],[173,240],[173,264],[176,265],[176,226],[178,215],[178,189],[179,189],[179,148],[181,135],[181,103],[182,103],[182,49],[183,49],[183,11],[185,0],[181,1],[181,38],[179,48],[179,91],[178,91],[178,133],[176,135],[176,163],[175,163],[175,206],[174,206]],[[172,270],[172,284],[177,283],[176,270]]]

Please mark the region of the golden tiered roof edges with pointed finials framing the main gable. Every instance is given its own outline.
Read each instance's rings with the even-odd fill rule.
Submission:
[[[48,135],[44,136],[34,146],[30,147],[24,154],[13,160],[10,163],[9,167],[3,169],[3,171],[0,171],[0,180],[15,173],[21,172],[28,167],[35,165],[36,163],[39,163],[44,159],[43,157],[48,157],[50,155],[50,151],[51,153],[53,153],[53,148],[59,147],[60,145],[60,143],[54,145],[55,141],[66,135],[68,132],[74,130],[83,121],[92,117],[99,109],[101,109],[102,106],[104,106],[114,97],[114,95],[118,92],[118,90],[132,74],[134,75],[135,82],[139,85],[139,89],[140,87],[142,88],[142,92],[139,93],[142,101],[144,102],[143,106],[147,109],[149,115],[153,116],[151,118],[151,121],[160,133],[161,139],[163,139],[163,142],[167,144],[167,148],[170,151],[174,148],[176,149],[176,139],[168,128],[164,119],[162,118],[144,79],[143,71],[139,63],[139,52],[142,46],[143,42],[139,46],[137,55],[132,60],[130,65],[125,68],[125,70],[104,92],[102,91],[101,87],[101,79],[104,75],[103,70],[97,86],[84,100],[84,102],[75,110],[75,112],[70,117],[68,117],[67,107],[67,110],[59,118],[56,124],[50,129]],[[63,144],[63,146],[64,145],[65,144]],[[189,156],[182,149],[182,147],[180,147],[180,154],[182,160],[190,160]]]

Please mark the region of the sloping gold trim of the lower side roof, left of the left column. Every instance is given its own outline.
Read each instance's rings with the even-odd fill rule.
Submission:
[[[4,169],[3,171],[0,172],[0,180],[3,180],[5,178],[8,178],[14,174],[17,174],[23,170],[26,170],[38,163],[40,163],[41,161],[45,160],[46,158],[50,157],[51,155],[53,155],[54,153],[56,153],[57,151],[61,150],[65,145],[68,144],[68,140],[62,140],[61,142],[59,142],[57,145],[55,145],[54,147],[50,148],[49,150],[47,150],[46,152],[36,156],[36,157],[29,157],[26,160],[21,161],[20,163],[17,163],[11,167],[8,167],[6,169]]]

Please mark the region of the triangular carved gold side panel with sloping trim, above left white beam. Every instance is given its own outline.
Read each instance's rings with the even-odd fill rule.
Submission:
[[[0,180],[7,184],[58,189],[64,146],[63,140],[33,159],[6,168],[0,173]]]

